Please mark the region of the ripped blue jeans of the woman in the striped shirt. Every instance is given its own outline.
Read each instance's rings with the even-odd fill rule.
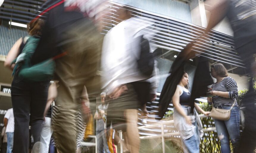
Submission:
[[[231,106],[218,106],[217,108],[230,109]],[[215,127],[218,133],[218,139],[221,141],[221,152],[229,153],[230,140],[234,146],[234,150],[239,147],[240,140],[240,111],[237,106],[234,106],[230,112],[230,119],[220,121],[214,119]]]

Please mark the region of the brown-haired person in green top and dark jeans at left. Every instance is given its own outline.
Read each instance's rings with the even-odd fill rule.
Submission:
[[[11,86],[15,119],[13,153],[28,153],[29,125],[31,125],[34,143],[40,141],[40,133],[44,121],[43,112],[46,106],[50,80],[26,80],[20,76],[20,72],[31,64],[31,56],[40,40],[43,23],[43,20],[40,19],[30,22],[28,29],[30,37],[27,40],[18,40],[8,53],[5,61],[5,66],[11,69],[14,68],[14,78]],[[26,42],[20,51],[20,47],[24,43],[23,40]],[[16,58],[17,56],[18,58]]]

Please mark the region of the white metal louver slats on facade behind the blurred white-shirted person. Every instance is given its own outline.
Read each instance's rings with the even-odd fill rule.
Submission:
[[[112,7],[109,10],[112,11],[109,15],[106,15],[103,21],[106,25],[104,26],[105,32],[109,31],[118,22],[121,22],[121,20],[116,20],[117,15],[115,12],[117,9],[122,9],[120,7],[122,5],[119,6],[116,3],[113,3],[113,5],[110,5]],[[151,24],[145,30],[151,34],[149,37],[154,42],[152,45],[156,47],[164,48],[168,50],[167,52],[180,52],[188,43],[195,41],[197,47],[194,48],[194,51],[199,53],[197,54],[198,56],[205,56],[215,61],[244,67],[242,60],[234,49],[234,41],[231,36],[212,30],[210,35],[205,37],[205,40],[199,41],[196,38],[202,34],[204,30],[202,27],[136,8],[132,8],[132,12],[137,17],[135,24],[141,24],[142,21],[145,24]]]

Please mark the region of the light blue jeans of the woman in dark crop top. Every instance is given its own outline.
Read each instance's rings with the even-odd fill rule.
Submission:
[[[199,131],[197,127],[196,121],[192,123],[196,128],[194,129],[194,134],[192,137],[182,140],[182,147],[184,153],[199,153],[199,145],[200,145],[200,139],[199,139]]]

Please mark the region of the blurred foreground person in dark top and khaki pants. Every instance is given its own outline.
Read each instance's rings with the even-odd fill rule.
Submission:
[[[76,152],[76,121],[82,106],[80,96],[84,86],[89,94],[100,87],[96,71],[102,36],[88,14],[84,13],[90,11],[88,7],[83,7],[83,4],[72,7],[76,2],[65,1],[65,4],[49,11],[42,38],[32,59],[33,64],[50,57],[55,59],[55,78],[59,81],[59,87],[55,101],[58,109],[52,118],[52,128],[60,153]],[[91,8],[95,1],[79,2],[93,3]],[[82,113],[85,112],[82,110]]]

